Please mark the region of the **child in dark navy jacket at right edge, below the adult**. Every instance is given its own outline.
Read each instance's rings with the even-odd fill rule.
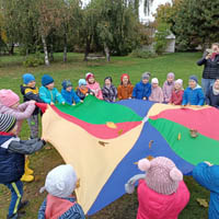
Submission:
[[[206,93],[206,104],[219,108],[219,79],[216,79],[214,85]]]

